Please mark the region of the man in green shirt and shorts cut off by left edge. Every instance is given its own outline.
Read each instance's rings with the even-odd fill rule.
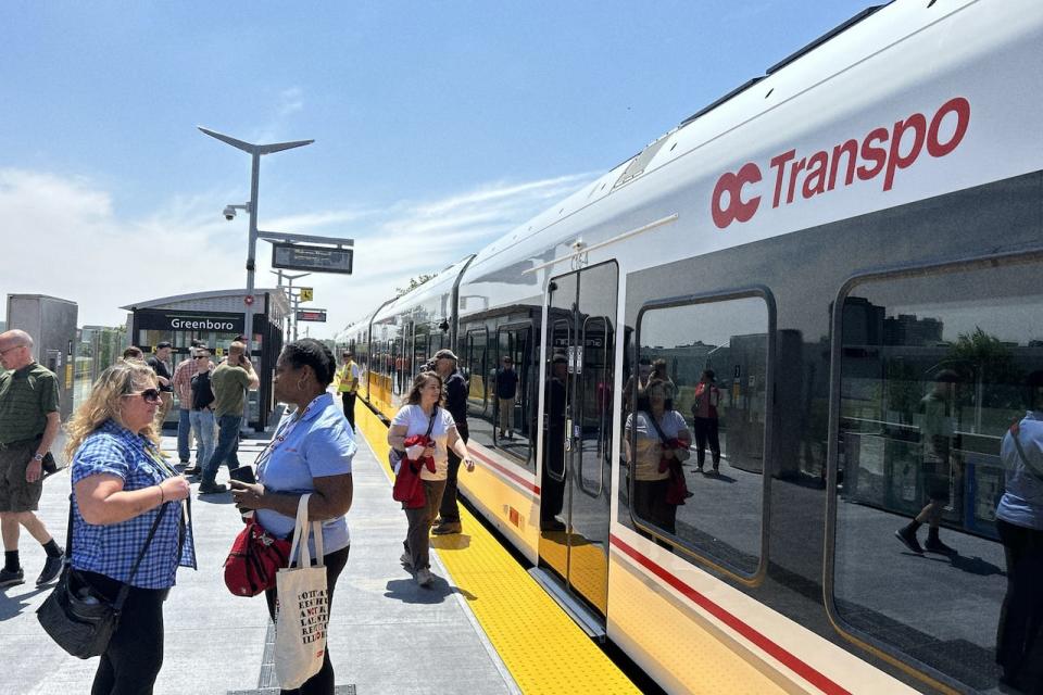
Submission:
[[[51,448],[61,416],[58,377],[33,359],[33,339],[21,330],[0,333],[0,529],[3,569],[0,587],[25,582],[18,557],[21,527],[47,552],[40,586],[58,577],[65,552],[34,511],[43,492],[43,457]]]

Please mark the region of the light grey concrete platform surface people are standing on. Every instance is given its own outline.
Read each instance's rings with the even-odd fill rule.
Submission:
[[[240,459],[263,442],[244,442]],[[174,448],[166,438],[164,448]],[[176,459],[176,456],[175,456]],[[222,477],[218,482],[222,482]],[[517,687],[461,594],[451,583],[419,589],[399,564],[405,516],[391,501],[388,481],[360,441],[355,494],[348,519],[351,556],[340,577],[329,629],[338,694],[516,693]],[[68,473],[47,481],[40,517],[64,542]],[[193,486],[194,491],[194,486]],[[165,607],[166,643],[158,694],[272,693],[265,668],[268,617],[262,597],[225,589],[222,564],[238,532],[230,495],[193,494],[199,571],[181,569]],[[66,655],[43,633],[35,611],[51,591],[33,585],[43,551],[23,532],[22,563],[29,581],[0,590],[0,693],[73,695],[89,692],[97,659]],[[433,569],[447,576],[437,557]],[[404,655],[409,653],[409,657]],[[403,668],[403,659],[413,665]],[[271,662],[271,654],[267,655]]]

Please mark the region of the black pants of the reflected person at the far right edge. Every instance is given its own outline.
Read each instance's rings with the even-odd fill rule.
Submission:
[[[996,662],[1016,679],[1043,623],[1043,531],[996,519],[1007,559],[1007,593],[996,628]],[[1036,684],[1043,690],[1043,683]],[[1035,692],[1035,691],[1027,691]]]

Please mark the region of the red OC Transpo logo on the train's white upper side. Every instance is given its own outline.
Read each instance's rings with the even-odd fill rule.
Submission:
[[[953,114],[956,123],[943,142],[945,136],[941,134],[941,127],[950,114]],[[771,207],[791,204],[797,187],[805,200],[827,193],[837,187],[841,174],[842,184],[851,186],[856,176],[859,180],[868,181],[883,172],[882,188],[889,191],[894,186],[899,169],[913,166],[925,144],[931,156],[945,156],[963,141],[969,125],[970,102],[963,97],[955,97],[939,108],[930,124],[923,114],[914,113],[903,121],[896,121],[890,130],[874,128],[860,142],[852,138],[832,150],[819,150],[800,160],[796,159],[796,150],[787,150],[770,160],[770,168],[775,169]],[[902,154],[903,147],[908,149],[905,154]],[[753,218],[761,206],[761,195],[751,195],[755,190],[747,190],[747,187],[755,189],[762,178],[761,167],[747,162],[738,172],[728,172],[717,179],[709,210],[719,229],[725,229],[733,222],[750,222]]]

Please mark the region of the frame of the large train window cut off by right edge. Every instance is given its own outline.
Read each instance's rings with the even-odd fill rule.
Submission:
[[[876,268],[850,276],[838,289],[830,315],[829,357],[829,418],[826,448],[826,529],[822,568],[822,603],[826,617],[837,633],[877,658],[894,666],[919,681],[942,691],[963,691],[967,684],[920,661],[901,646],[880,640],[847,622],[837,607],[837,515],[840,494],[837,490],[840,464],[840,412],[843,374],[843,317],[844,305],[851,293],[860,285],[887,280],[940,277],[1002,266],[1043,265],[1043,249],[1015,253],[991,254],[967,258],[947,260],[927,264],[905,264]]]

